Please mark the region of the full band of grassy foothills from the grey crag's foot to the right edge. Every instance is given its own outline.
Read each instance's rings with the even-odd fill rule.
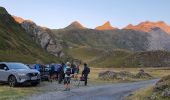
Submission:
[[[69,56],[92,67],[169,67],[170,52],[132,52],[120,49],[79,47],[67,49]]]

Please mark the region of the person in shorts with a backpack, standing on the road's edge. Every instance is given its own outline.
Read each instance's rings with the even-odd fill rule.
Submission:
[[[70,81],[71,81],[71,64],[69,62],[66,63],[66,68],[64,69],[64,91],[70,91]]]

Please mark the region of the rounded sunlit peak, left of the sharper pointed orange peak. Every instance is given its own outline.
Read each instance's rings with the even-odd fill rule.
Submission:
[[[65,29],[84,29],[85,27],[80,24],[78,21],[72,22],[70,25],[68,25]]]

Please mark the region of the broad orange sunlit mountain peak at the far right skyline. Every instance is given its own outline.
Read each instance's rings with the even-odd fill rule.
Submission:
[[[132,30],[137,30],[137,31],[150,32],[155,27],[158,27],[158,28],[162,29],[163,31],[170,33],[170,26],[167,25],[163,21],[158,21],[158,22],[145,21],[145,22],[141,22],[138,25],[134,25],[134,26],[128,25],[127,27],[125,27],[125,29],[132,29]]]

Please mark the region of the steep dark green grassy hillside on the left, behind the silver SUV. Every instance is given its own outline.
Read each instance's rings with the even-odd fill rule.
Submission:
[[[15,22],[3,7],[0,7],[0,61],[49,63],[58,62],[59,59],[33,42],[20,24]]]

